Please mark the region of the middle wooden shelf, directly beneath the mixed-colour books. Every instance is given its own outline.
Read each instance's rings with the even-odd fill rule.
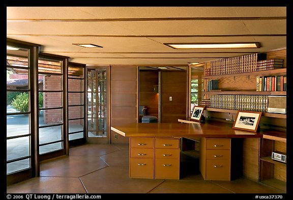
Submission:
[[[207,91],[202,93],[208,95],[287,95],[286,91]]]

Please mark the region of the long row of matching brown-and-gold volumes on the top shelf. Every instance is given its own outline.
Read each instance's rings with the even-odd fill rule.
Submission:
[[[220,59],[211,62],[211,68],[205,69],[204,75],[234,74],[256,71],[257,53]]]

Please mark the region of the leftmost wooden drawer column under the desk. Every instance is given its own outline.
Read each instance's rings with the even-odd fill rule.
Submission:
[[[154,138],[130,138],[130,178],[154,179]]]

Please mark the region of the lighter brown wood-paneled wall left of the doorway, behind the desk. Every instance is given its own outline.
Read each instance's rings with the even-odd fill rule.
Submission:
[[[137,122],[138,67],[111,66],[111,126]],[[111,143],[129,143],[129,138],[111,131]]]

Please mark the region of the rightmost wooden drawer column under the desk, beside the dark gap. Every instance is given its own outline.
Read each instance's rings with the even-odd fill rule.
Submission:
[[[201,138],[200,173],[204,180],[230,181],[230,138]]]

